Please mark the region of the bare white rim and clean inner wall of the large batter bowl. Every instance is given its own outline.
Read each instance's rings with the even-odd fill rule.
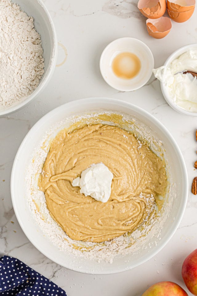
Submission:
[[[112,111],[126,115],[133,122],[137,123],[139,130],[142,130],[143,138],[146,138],[146,135],[149,134],[151,135],[150,137],[155,139],[155,143],[159,143],[162,146],[169,171],[169,182],[172,185],[167,200],[167,205],[169,205],[167,208],[168,212],[166,213],[167,219],[162,218],[161,220],[162,230],[160,237],[157,236],[158,233],[151,233],[150,231],[144,240],[143,247],[141,248],[140,246],[137,253],[131,252],[124,256],[117,255],[111,264],[102,260],[100,262],[93,259],[87,260],[72,253],[65,253],[65,251],[59,250],[58,246],[50,241],[46,233],[43,233],[42,229],[35,222],[27,203],[27,189],[25,185],[27,166],[30,164],[33,155],[38,158],[35,148],[43,141],[46,131],[51,126],[57,126],[58,122],[62,122],[61,129],[66,125],[69,126],[71,122],[68,118],[72,115],[84,116],[84,114],[99,111]],[[60,127],[58,127],[58,130],[60,130]],[[52,130],[51,137],[54,137],[58,130],[55,132]],[[143,109],[130,103],[110,98],[88,98],[72,101],[59,106],[42,117],[32,127],[19,147],[11,175],[11,195],[14,211],[19,224],[32,244],[54,262],[75,271],[92,274],[125,271],[142,264],[158,253],[173,236],[180,223],[187,203],[187,194],[188,181],[185,163],[179,147],[171,134],[157,119]]]

